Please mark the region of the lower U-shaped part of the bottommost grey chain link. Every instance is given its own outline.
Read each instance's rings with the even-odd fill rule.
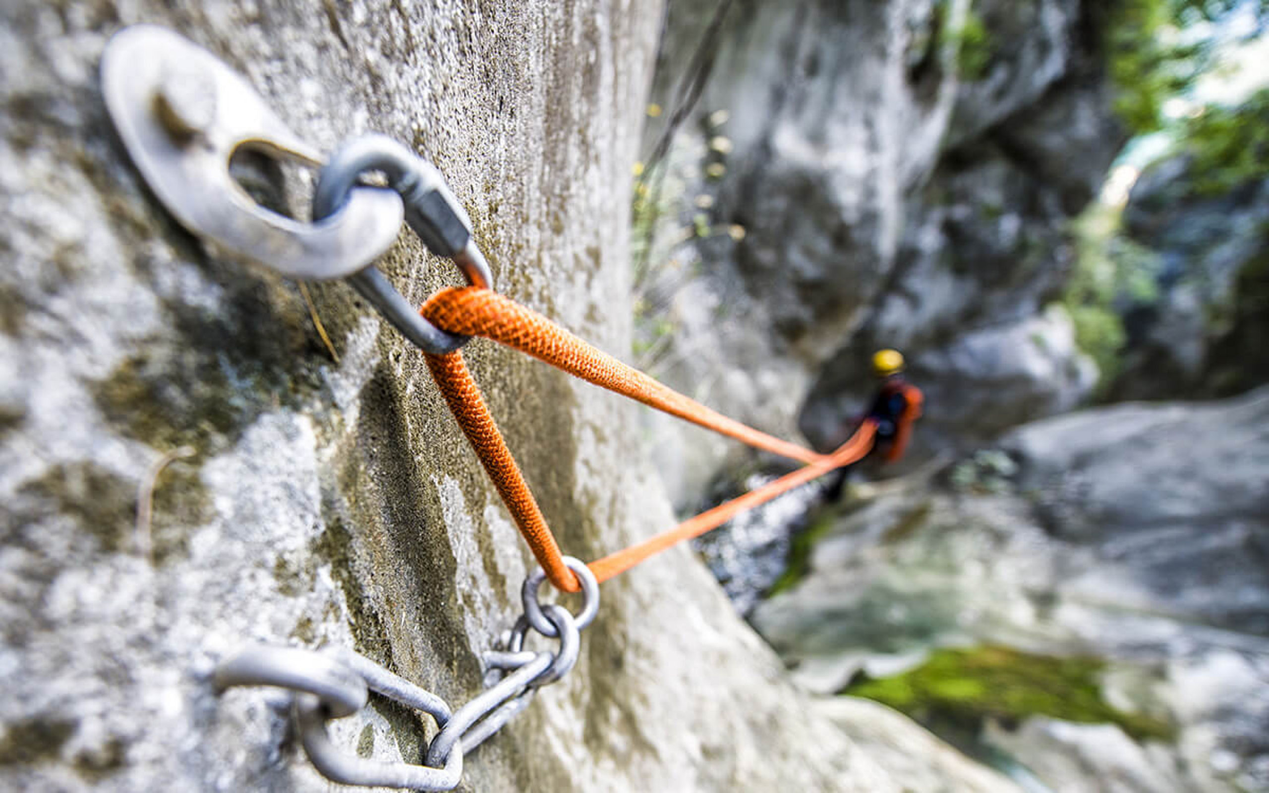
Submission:
[[[444,766],[381,763],[348,755],[335,747],[326,735],[321,703],[308,694],[299,694],[294,703],[296,722],[305,754],[324,777],[340,784],[410,788],[412,790],[452,790],[463,777],[463,746],[454,741]]]

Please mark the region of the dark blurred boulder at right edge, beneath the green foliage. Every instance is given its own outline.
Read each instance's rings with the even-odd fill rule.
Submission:
[[[1123,299],[1128,331],[1115,400],[1227,396],[1269,381],[1269,181],[1197,189],[1189,160],[1137,181],[1128,236],[1157,256],[1148,301]]]

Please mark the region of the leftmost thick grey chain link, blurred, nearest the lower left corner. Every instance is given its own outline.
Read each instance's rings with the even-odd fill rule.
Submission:
[[[369,695],[365,680],[339,661],[298,647],[247,647],[216,667],[217,689],[275,685],[315,695],[332,718],[352,716]]]

